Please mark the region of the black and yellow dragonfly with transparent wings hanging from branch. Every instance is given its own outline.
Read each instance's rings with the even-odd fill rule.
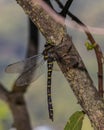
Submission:
[[[43,64],[47,61],[47,104],[49,111],[49,118],[53,121],[53,105],[51,97],[51,78],[53,70],[53,62],[55,57],[49,50],[53,46],[46,44],[45,50],[30,58],[25,60],[18,61],[16,63],[10,64],[6,67],[5,71],[7,73],[21,73],[18,79],[16,80],[17,86],[29,85],[31,82],[36,80],[44,71]],[[58,70],[58,69],[56,69]]]

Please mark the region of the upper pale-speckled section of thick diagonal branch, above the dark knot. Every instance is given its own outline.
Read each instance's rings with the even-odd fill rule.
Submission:
[[[41,33],[45,36],[47,42],[53,42],[53,44],[56,43],[57,45],[61,42],[65,33],[65,28],[61,25],[64,24],[62,17],[57,17],[58,15],[44,3],[43,0],[16,1],[24,8],[25,13],[30,16]],[[39,14],[40,17],[38,16]],[[43,17],[44,15],[46,17]]]

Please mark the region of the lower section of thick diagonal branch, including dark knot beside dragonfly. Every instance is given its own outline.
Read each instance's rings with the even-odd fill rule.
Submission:
[[[64,37],[62,44],[63,47],[57,50],[57,62],[92,124],[97,130],[104,130],[104,100],[100,98],[71,38]]]

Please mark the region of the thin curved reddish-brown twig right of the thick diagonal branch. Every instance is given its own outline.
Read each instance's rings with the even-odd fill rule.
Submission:
[[[60,6],[60,8],[62,8],[62,9],[64,8],[63,4],[59,0],[56,0],[56,2]],[[92,45],[94,45],[96,43],[96,41],[93,38],[93,36],[90,33],[87,26],[69,11],[68,11],[68,15],[72,18],[72,20],[74,20],[81,27],[83,27],[83,30],[84,30],[85,34],[87,35],[88,40],[91,42]],[[97,63],[98,63],[98,90],[99,90],[99,95],[101,97],[103,97],[103,92],[104,92],[103,91],[103,63],[102,63],[103,53],[98,44],[96,44],[96,47],[94,48],[94,50],[95,50]]]

